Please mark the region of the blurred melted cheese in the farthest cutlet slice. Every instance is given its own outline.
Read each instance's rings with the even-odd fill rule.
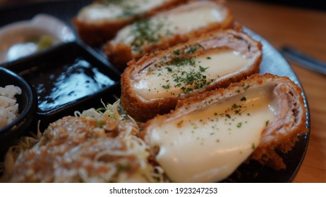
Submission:
[[[87,23],[102,23],[105,20],[126,18],[149,11],[161,6],[169,0],[121,0],[116,3],[90,4],[85,6],[79,13],[78,19]]]

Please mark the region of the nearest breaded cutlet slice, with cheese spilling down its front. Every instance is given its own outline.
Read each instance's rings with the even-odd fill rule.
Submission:
[[[219,182],[248,158],[284,169],[277,151],[291,150],[305,125],[300,87],[265,74],[187,98],[143,135],[173,182]]]

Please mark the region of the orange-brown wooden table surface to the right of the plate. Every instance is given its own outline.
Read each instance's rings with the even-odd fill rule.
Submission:
[[[326,11],[229,0],[237,21],[279,49],[291,45],[326,62]],[[291,63],[310,108],[310,141],[294,182],[326,182],[326,75]]]

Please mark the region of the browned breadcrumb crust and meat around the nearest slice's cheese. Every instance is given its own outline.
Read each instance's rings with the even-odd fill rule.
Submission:
[[[274,86],[273,94],[278,101],[277,115],[267,127],[262,130],[260,144],[250,155],[248,160],[257,160],[262,165],[272,167],[274,170],[285,169],[282,158],[277,151],[286,153],[291,151],[294,144],[298,140],[298,135],[307,132],[306,129],[306,107],[303,102],[302,90],[297,84],[289,80],[288,77],[279,77],[277,75],[252,75],[247,80],[233,83],[224,89],[216,89],[198,94],[191,98],[186,98],[176,106],[176,109],[167,115],[158,115],[152,120],[146,122],[145,129],[142,133],[145,141],[148,141],[148,133],[146,127],[157,122],[163,122],[178,113],[186,114],[184,111],[193,103],[219,98],[219,101],[227,99],[236,94],[241,94],[246,89],[260,87],[265,84]],[[239,92],[239,93],[237,93]],[[207,107],[207,106],[206,106]],[[157,150],[152,150],[152,158],[155,157]]]

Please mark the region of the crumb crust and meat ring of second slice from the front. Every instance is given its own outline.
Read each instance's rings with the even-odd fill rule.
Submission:
[[[205,86],[193,91],[188,91],[185,94],[147,100],[135,92],[133,87],[133,84],[135,83],[135,75],[139,72],[143,72],[142,70],[149,69],[150,66],[155,65],[160,61],[169,61],[169,58],[165,57],[174,56],[174,51],[183,49],[188,50],[192,46],[196,47],[195,54],[215,49],[217,50],[217,53],[218,50],[231,49],[239,51],[239,53],[242,53],[244,56],[248,56],[252,61],[250,61],[250,65],[247,65],[246,68],[241,68],[242,70],[236,70],[231,72],[231,74],[219,76],[213,82],[210,82],[210,84],[205,84]],[[227,87],[231,82],[239,82],[245,77],[259,72],[261,58],[262,51],[260,42],[256,42],[241,31],[216,30],[208,32],[207,34],[203,34],[201,37],[191,39],[186,44],[179,44],[165,51],[156,51],[151,53],[149,56],[140,58],[139,61],[129,62],[128,68],[124,70],[121,76],[121,105],[127,113],[136,120],[149,120],[157,114],[169,113],[180,99],[200,94],[217,87]],[[205,68],[205,65],[200,66]],[[155,72],[155,66],[152,66],[151,70],[154,70],[152,72]],[[171,73],[171,75],[172,74],[173,73]]]

